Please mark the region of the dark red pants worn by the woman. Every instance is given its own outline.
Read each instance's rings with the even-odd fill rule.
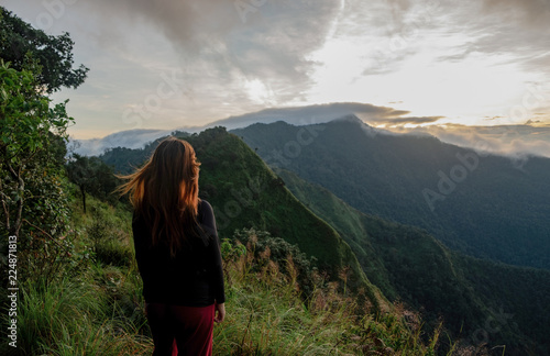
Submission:
[[[212,355],[215,305],[146,305],[153,334],[153,356]],[[176,346],[177,345],[177,346]]]

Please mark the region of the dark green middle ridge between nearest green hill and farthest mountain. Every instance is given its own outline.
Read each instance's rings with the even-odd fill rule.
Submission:
[[[329,190],[282,170],[287,187],[350,244],[369,279],[454,337],[506,345],[507,354],[548,354],[550,272],[453,253],[411,226],[366,215]],[[502,349],[499,349],[502,352]]]

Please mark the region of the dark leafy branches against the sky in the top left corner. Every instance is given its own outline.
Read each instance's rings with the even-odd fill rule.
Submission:
[[[77,88],[86,79],[88,68],[73,68],[73,45],[68,33],[47,35],[0,7],[0,58],[16,70],[29,62],[42,66],[36,80],[46,92],[61,87]]]

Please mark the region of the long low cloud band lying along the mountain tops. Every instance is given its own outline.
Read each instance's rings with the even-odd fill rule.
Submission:
[[[525,125],[463,126],[429,125],[405,129],[406,123],[437,122],[440,118],[413,118],[408,111],[366,103],[339,102],[296,108],[265,109],[258,112],[230,116],[201,126],[182,126],[173,130],[129,130],[102,138],[73,140],[75,152],[82,155],[99,155],[108,148],[140,148],[158,137],[174,131],[198,133],[208,127],[224,126],[228,130],[242,129],[254,123],[284,121],[295,125],[326,123],[331,120],[354,114],[362,121],[374,124],[400,125],[389,129],[397,133],[432,135],[443,142],[464,147],[502,153],[506,155],[541,155],[550,157],[550,127]]]

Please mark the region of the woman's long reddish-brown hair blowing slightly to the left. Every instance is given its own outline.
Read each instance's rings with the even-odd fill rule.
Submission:
[[[148,162],[119,187],[151,229],[153,246],[166,243],[174,256],[194,234],[199,203],[199,166],[193,146],[176,137],[161,142]]]

